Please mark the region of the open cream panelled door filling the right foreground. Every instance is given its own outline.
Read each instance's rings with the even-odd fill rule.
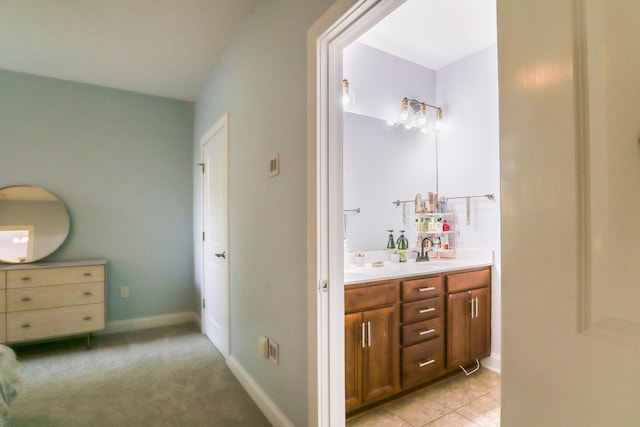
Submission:
[[[502,423],[640,423],[640,2],[498,1]]]

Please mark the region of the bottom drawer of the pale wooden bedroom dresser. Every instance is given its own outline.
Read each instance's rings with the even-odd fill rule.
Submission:
[[[104,329],[104,304],[87,304],[7,314],[7,341],[29,341]]]

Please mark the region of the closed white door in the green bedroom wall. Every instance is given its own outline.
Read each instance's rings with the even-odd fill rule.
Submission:
[[[202,138],[203,327],[217,349],[229,355],[228,115]]]

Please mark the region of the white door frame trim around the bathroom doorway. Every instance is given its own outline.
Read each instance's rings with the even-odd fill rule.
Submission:
[[[405,1],[338,0],[307,33],[309,425],[345,423],[342,50]]]

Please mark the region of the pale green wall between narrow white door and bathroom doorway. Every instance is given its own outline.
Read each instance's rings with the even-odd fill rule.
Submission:
[[[230,113],[231,356],[296,426],[308,408],[307,30],[332,3],[260,2],[196,103],[196,161],[200,138]],[[276,153],[280,175],[270,178]],[[279,366],[258,354],[261,335],[280,344]]]

